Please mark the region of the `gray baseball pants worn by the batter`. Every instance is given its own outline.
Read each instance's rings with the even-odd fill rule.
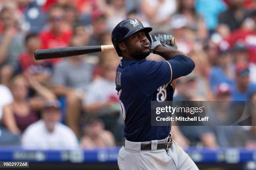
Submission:
[[[143,142],[151,143],[151,150],[141,150],[141,142],[131,142],[125,139],[118,154],[118,167],[120,170],[199,170],[192,159],[177,145],[175,141],[169,149],[156,150],[157,143],[164,140]]]

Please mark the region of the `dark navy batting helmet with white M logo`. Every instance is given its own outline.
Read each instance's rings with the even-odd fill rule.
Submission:
[[[122,57],[122,53],[118,47],[118,43],[140,30],[145,31],[146,36],[151,43],[151,38],[149,37],[148,32],[152,31],[152,28],[143,27],[141,22],[135,18],[128,18],[121,21],[120,23],[118,23],[118,25],[115,26],[112,31],[111,40],[119,57]]]

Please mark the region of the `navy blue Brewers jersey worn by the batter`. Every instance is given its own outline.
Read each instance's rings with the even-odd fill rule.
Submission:
[[[151,126],[151,101],[170,101],[174,90],[171,81],[188,75],[195,63],[184,55],[171,60],[122,59],[116,72],[116,90],[125,121],[124,136],[133,142],[161,140],[171,126]]]

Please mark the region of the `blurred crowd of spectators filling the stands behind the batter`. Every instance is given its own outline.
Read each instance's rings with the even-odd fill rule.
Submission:
[[[33,53],[110,45],[125,18],[151,26],[151,34],[172,34],[195,61],[195,70],[176,80],[174,100],[256,101],[256,0],[0,0],[0,146],[122,145],[116,52],[38,61]],[[224,107],[215,110],[220,119]],[[254,126],[172,131],[182,147],[256,148]]]

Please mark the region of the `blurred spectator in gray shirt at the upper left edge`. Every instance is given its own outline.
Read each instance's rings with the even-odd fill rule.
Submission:
[[[3,32],[0,35],[0,77],[3,85],[8,82],[18,68],[18,55],[23,50],[23,34],[19,31],[18,21],[15,20],[14,11],[3,7],[0,19]]]

